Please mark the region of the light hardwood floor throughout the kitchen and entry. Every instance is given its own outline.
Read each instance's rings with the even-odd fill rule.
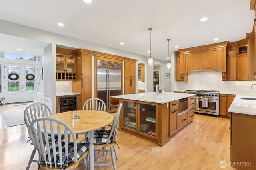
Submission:
[[[34,148],[26,143],[26,125],[7,127],[3,115],[5,110],[26,106],[0,106],[0,170],[26,169]],[[194,121],[164,147],[121,131],[117,142],[120,147],[116,160],[118,170],[216,170],[222,169],[221,160],[230,162],[229,119],[215,116],[195,114]],[[111,162],[110,155],[108,161]],[[81,161],[77,170],[83,168]],[[30,169],[36,170],[37,164],[32,162]],[[112,170],[113,166],[94,169]]]

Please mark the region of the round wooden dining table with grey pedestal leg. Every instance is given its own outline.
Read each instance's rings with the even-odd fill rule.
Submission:
[[[52,117],[60,121],[63,121],[64,123],[69,125],[74,130],[74,133],[76,134],[87,132],[87,135],[89,138],[89,147],[88,147],[89,167],[90,167],[90,170],[93,170],[94,169],[94,145],[93,145],[94,132],[96,129],[101,129],[106,125],[109,125],[114,120],[113,115],[105,111],[80,110],[80,119],[73,119],[73,111],[58,113],[58,114],[50,115],[48,117]],[[64,134],[64,129],[62,134]]]

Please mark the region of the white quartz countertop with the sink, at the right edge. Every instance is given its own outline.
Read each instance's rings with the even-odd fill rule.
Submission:
[[[256,96],[237,95],[228,108],[229,112],[256,115],[256,100],[240,99],[241,97],[256,98]]]

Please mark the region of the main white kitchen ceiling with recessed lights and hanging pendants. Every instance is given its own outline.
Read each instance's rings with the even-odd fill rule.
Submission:
[[[249,6],[250,0],[0,0],[0,19],[145,56],[152,27],[152,57],[166,61],[167,38],[171,51],[245,38],[254,20]]]

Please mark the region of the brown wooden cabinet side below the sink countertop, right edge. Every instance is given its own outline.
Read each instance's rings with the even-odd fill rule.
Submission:
[[[230,115],[230,162],[239,170],[256,169],[256,116],[242,113]],[[246,163],[246,164],[244,164]],[[244,166],[242,166],[244,165]]]

